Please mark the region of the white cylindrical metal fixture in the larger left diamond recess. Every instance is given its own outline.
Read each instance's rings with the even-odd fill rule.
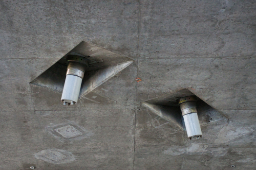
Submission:
[[[77,103],[85,69],[89,67],[89,60],[77,55],[68,55],[66,61],[68,65],[61,100],[64,105],[66,103],[73,105]]]

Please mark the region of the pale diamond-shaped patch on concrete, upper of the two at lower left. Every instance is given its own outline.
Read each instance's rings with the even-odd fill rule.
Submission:
[[[47,126],[45,127],[45,130],[61,142],[72,142],[74,140],[81,140],[93,135],[92,132],[87,131],[85,128],[71,121]]]

